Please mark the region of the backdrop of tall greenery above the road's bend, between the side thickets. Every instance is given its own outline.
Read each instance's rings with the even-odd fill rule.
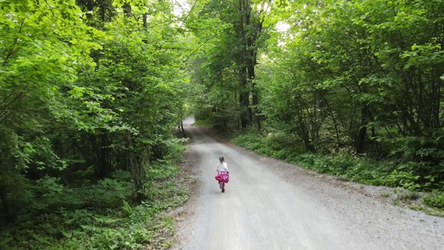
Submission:
[[[198,45],[187,63],[198,84],[196,119],[212,119],[223,131],[253,125],[261,130],[256,86],[257,56],[268,38],[274,1],[195,1],[185,27]]]

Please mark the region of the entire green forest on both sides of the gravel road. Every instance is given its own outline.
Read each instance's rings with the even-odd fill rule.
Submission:
[[[0,14],[0,249],[169,248],[189,116],[444,209],[441,0],[0,0]]]

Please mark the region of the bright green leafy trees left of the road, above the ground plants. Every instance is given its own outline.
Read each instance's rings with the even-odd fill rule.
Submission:
[[[28,190],[46,175],[82,186],[123,169],[133,178],[134,201],[145,198],[146,171],[175,143],[179,86],[187,82],[171,8],[142,0],[2,2],[6,219],[36,201]]]

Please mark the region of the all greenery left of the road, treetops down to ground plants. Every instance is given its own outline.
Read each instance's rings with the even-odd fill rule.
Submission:
[[[0,248],[155,242],[185,199],[182,17],[171,1],[0,5]]]

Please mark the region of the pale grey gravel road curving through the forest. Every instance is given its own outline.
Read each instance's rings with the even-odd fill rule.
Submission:
[[[366,197],[318,174],[185,131],[198,157],[199,190],[185,206],[173,249],[444,249],[444,219]],[[225,156],[230,183],[214,180]]]

